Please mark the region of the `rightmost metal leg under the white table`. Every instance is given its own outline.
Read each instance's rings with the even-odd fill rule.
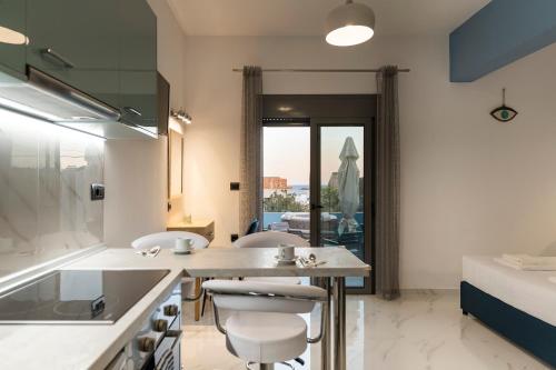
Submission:
[[[334,370],[346,370],[346,278],[334,282]]]

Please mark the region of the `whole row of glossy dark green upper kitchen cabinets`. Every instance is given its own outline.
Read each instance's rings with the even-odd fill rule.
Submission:
[[[0,26],[28,44],[0,42],[0,70],[26,66],[157,132],[157,18],[146,0],[0,0]]]

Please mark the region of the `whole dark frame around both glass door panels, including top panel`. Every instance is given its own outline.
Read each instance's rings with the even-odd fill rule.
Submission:
[[[287,108],[287,109],[285,109]],[[310,127],[310,203],[320,202],[320,129],[319,126],[364,126],[365,259],[370,277],[364,288],[349,288],[348,293],[376,293],[376,119],[377,94],[262,94],[262,126]],[[262,140],[262,138],[261,138]],[[262,173],[261,173],[262,176]],[[318,213],[318,214],[317,214]],[[319,244],[320,209],[310,211],[311,246]]]

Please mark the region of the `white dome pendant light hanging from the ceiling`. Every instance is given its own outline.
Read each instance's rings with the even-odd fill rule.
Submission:
[[[370,40],[375,34],[375,12],[363,3],[347,0],[332,9],[326,19],[326,42],[351,47]]]

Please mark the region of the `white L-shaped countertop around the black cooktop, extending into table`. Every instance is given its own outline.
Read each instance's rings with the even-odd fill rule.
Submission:
[[[368,276],[370,268],[341,248],[302,249],[326,264],[312,269],[279,267],[276,249],[209,248],[189,256],[162,250],[156,258],[131,248],[106,249],[61,269],[169,269],[147,296],[115,324],[1,324],[1,369],[103,369],[140,330],[142,322],[170,293],[183,273],[191,277]]]

